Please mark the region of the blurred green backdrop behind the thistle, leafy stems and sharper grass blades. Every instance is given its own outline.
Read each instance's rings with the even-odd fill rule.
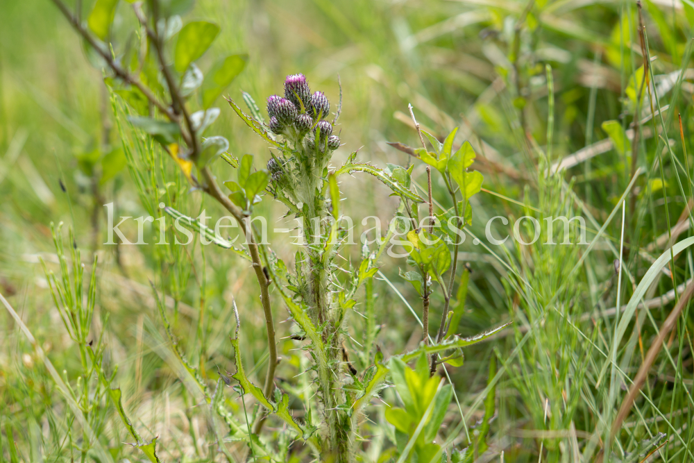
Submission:
[[[85,14],[89,3],[83,4]],[[684,143],[691,151],[694,86],[690,81],[694,73],[687,70],[682,73],[684,80],[677,81],[680,69],[688,69],[691,52],[694,24],[690,21],[694,16],[688,15],[686,5],[688,2],[669,0],[643,5],[650,56],[657,56],[652,62],[653,73],[668,76],[673,82],[659,95],[661,106],[670,105],[667,112],[663,110],[667,119],[662,123],[664,130],[647,121],[643,134],[651,135],[642,135],[633,151],[636,165],[643,167],[645,174],[637,180],[634,205],[627,208],[625,267],[633,277],[623,277],[622,303],[628,301],[634,283],[641,280],[653,258],[664,251],[667,239],[657,242],[657,238],[669,237],[678,219],[683,218],[685,224],[691,220],[691,208],[686,204],[691,201],[687,197],[691,198],[688,166],[694,162],[684,155],[677,117],[673,117],[681,113]],[[126,8],[128,5],[121,2],[115,28],[126,27]],[[323,90],[335,107],[339,75],[344,103],[336,130],[344,146],[336,153],[336,163],[357,149],[360,160],[379,167],[387,162],[410,162],[405,153],[386,144],[418,144],[407,115],[408,103],[432,133],[445,136],[452,128],[461,127],[458,141],[468,139],[475,146],[484,187],[528,206],[495,194],[475,196],[471,230],[478,237],[484,235],[484,224],[491,217],[516,219],[541,210],[547,216],[580,212],[586,221],[586,214],[591,214],[595,222],[588,221],[593,230],[590,241],[631,180],[632,152],[610,146],[551,180],[542,180],[542,166],[609,140],[601,128],[604,121],[616,120],[623,128],[632,123],[634,110],[625,91],[629,78],[643,64],[636,3],[202,0],[188,17],[210,19],[221,26],[221,34],[203,64],[210,60],[209,65],[221,53],[248,53],[245,71],[225,93],[237,100],[244,90],[256,101],[263,101],[266,95],[280,92],[285,75],[303,72],[312,88]],[[80,40],[49,1],[3,0],[0,18],[0,292],[40,340],[56,369],[65,369],[69,381],[74,382],[79,374],[76,348],[62,330],[38,263],[42,255],[52,265],[50,222],[73,226],[75,244],[83,255],[99,254],[94,330],[105,332],[106,355],[109,364],[118,365],[116,378],[127,398],[126,408],[146,430],[146,437],[160,437],[165,460],[212,461],[219,455],[210,446],[210,429],[161,355],[160,321],[147,283],[148,278],[157,280],[160,276],[158,251],[155,246],[102,244],[104,203],[113,201],[117,215],[122,216],[139,217],[146,209],[127,169],[101,183],[81,165],[81,160],[95,150],[97,155],[107,153],[120,143],[101,71],[90,65]],[[554,106],[548,104],[545,65],[552,67]],[[666,86],[666,78],[656,84]],[[247,131],[225,105],[221,99],[217,102],[222,114],[215,130],[228,138],[230,152],[269,158],[262,140]],[[641,108],[641,117],[650,113],[646,106]],[[548,146],[550,114],[554,126]],[[653,120],[661,124],[658,118]],[[661,140],[652,137],[654,130],[674,140],[671,153],[662,151]],[[223,162],[217,161],[214,169],[222,179],[230,176]],[[415,176],[418,183],[425,184],[423,165],[415,167]],[[67,194],[62,192],[61,183]],[[390,191],[371,178],[355,176],[343,181],[341,188],[348,198],[344,201],[346,210],[355,223],[371,214],[387,221],[396,208]],[[184,212],[193,215],[203,207],[221,212],[211,201],[201,203],[199,194],[182,191],[188,196]],[[442,184],[434,184],[434,197],[443,198],[444,192]],[[631,196],[627,205],[630,201]],[[448,207],[446,201],[442,203]],[[271,201],[263,201],[260,210],[272,218],[271,228],[274,218],[285,212]],[[284,223],[280,220],[277,226],[282,228]],[[608,385],[605,380],[602,384],[598,381],[605,362],[601,353],[613,347],[614,326],[607,316],[591,317],[596,305],[611,308],[616,302],[616,288],[609,282],[611,262],[618,257],[614,250],[620,249],[620,226],[620,219],[611,221],[577,273],[569,271],[582,258],[585,246],[548,249],[537,243],[523,248],[509,239],[505,249],[494,249],[498,258],[473,245],[471,239],[462,246],[462,258],[473,269],[466,317],[460,325],[462,334],[473,334],[502,321],[516,323],[507,336],[468,351],[464,366],[450,369],[466,420],[466,432],[455,440],[457,447],[467,445],[468,428],[472,433],[482,416],[480,394],[486,384],[489,355],[496,352],[505,370],[498,385],[498,416],[492,425],[493,452],[489,458],[498,459],[498,453],[505,451],[505,461],[511,462],[536,461],[540,454],[549,461],[592,461],[594,453],[587,449],[600,446],[604,426],[609,426],[613,407],[620,402],[606,397],[608,393],[623,395],[622,389],[629,384],[619,378],[607,381]],[[510,227],[499,226],[498,233],[503,236]],[[128,233],[136,233],[134,226]],[[278,243],[275,249],[280,257],[289,257],[288,246],[282,251],[289,237],[271,235],[271,242]],[[227,336],[234,323],[230,304],[235,297],[244,319],[244,362],[260,380],[264,369],[258,364],[254,370],[254,366],[262,362],[266,348],[264,320],[255,282],[247,278],[248,268],[211,246],[205,255],[199,246],[187,249],[189,252],[179,256],[188,260],[181,266],[188,273],[180,277],[183,289],[175,303],[176,336],[192,363],[205,366],[208,378],[217,378],[217,367],[232,371]],[[356,246],[353,253],[359,253]],[[527,294],[527,288],[518,284],[502,260],[527,279],[534,294]],[[91,258],[85,262],[90,264]],[[412,287],[398,280],[398,264],[405,267],[404,262],[386,260],[382,271],[420,311],[412,302],[416,301]],[[675,283],[691,278],[691,255],[679,257],[669,268],[675,274],[674,283],[672,278],[657,280],[649,297],[666,294]],[[414,317],[385,281],[378,281],[376,290],[381,317],[377,322],[384,325],[378,344],[385,353],[414,346],[421,339]],[[641,353],[635,352],[634,358],[622,365],[627,376],[634,376],[655,327],[667,317],[673,303],[670,300],[648,312],[648,323],[645,312],[639,312],[643,314],[639,316],[641,325],[629,325],[625,339],[632,336],[637,342],[617,346],[618,355],[631,355],[629,349],[633,351],[635,346]],[[206,317],[203,332],[196,328],[201,304]],[[441,305],[441,300],[434,298],[432,319],[439,319]],[[286,318],[279,304],[275,310],[276,320]],[[108,323],[103,324],[107,313]],[[71,444],[65,437],[77,425],[66,414],[31,344],[8,315],[0,315],[0,320],[0,458],[11,460],[15,453],[10,442],[16,442],[21,460],[67,461]],[[692,460],[693,321],[694,317],[686,314],[675,342],[668,345],[670,356],[661,355],[654,366],[657,374],[646,392],[651,402],[638,403],[632,426],[621,436],[624,451],[634,451],[638,441],[661,431],[666,433],[668,444],[650,461]],[[357,332],[359,323],[355,321]],[[280,337],[289,335],[285,326],[278,323]],[[206,357],[202,360],[198,358],[198,337],[205,339]],[[302,368],[292,348],[289,340],[280,343],[285,360],[278,377],[286,378],[288,384]],[[238,404],[236,407],[238,411]],[[126,437],[113,415],[112,410],[105,412],[103,443],[113,449],[116,459],[132,459],[133,450],[120,444]],[[373,446],[371,453],[366,446],[364,461],[388,457],[385,428],[389,425],[377,416],[375,413],[373,426],[367,424],[365,432],[380,436],[382,444]],[[460,419],[454,403],[446,429],[454,428]],[[70,436],[69,441],[72,439]]]

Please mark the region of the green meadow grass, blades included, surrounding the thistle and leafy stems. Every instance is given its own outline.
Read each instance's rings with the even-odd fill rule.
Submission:
[[[455,398],[436,441],[449,459],[454,448],[481,445],[477,435],[487,424],[489,448],[477,461],[587,463],[610,441],[620,405],[683,291],[664,303],[655,299],[688,282],[694,267],[691,247],[675,255],[666,246],[670,237],[691,237],[694,226],[687,208],[694,176],[687,155],[694,141],[688,4],[643,3],[643,47],[638,8],[627,1],[201,0],[185,17],[221,26],[204,69],[217,56],[248,53],[246,69],[225,93],[236,101],[244,90],[260,102],[280,89],[285,75],[303,72],[335,102],[339,74],[344,103],[336,130],[345,145],[335,153],[335,167],[359,147],[359,160],[379,167],[412,162],[385,143],[418,146],[408,103],[426,130],[445,137],[459,127],[456,145],[473,144],[488,192],[471,201],[471,235],[460,249],[457,278],[466,262],[472,273],[464,300],[455,301],[464,307],[459,332],[514,324],[466,349],[462,366],[446,366]],[[91,8],[83,2],[85,16]],[[119,5],[119,32],[132,27],[127,8]],[[0,310],[0,460],[139,461],[157,437],[164,461],[242,461],[244,455],[253,461],[248,445],[229,430],[248,433],[257,401],[248,392],[218,389],[219,373],[234,373],[237,355],[248,378],[264,383],[266,331],[248,262],[217,246],[103,245],[104,203],[113,201],[118,215],[160,217],[158,189],[167,183],[167,205],[184,214],[223,210],[190,192],[169,156],[128,128],[121,101],[112,103],[101,71],[50,1],[3,1],[0,18],[0,294],[12,308]],[[651,59],[649,82],[657,94],[632,78],[643,55]],[[230,141],[230,153],[253,153],[257,165],[269,159],[266,143],[221,99],[216,106],[215,128]],[[645,120],[634,138],[638,119]],[[608,140],[611,146],[600,149]],[[591,150],[594,155],[550,174],[553,164]],[[128,168],[119,161],[122,169],[100,182],[110,167],[100,161],[94,170],[87,161],[107,153],[126,158]],[[414,162],[413,180],[425,188],[423,163]],[[212,168],[219,180],[235,178],[222,160]],[[347,198],[342,208],[355,223],[368,215],[389,220],[398,207],[391,190],[369,176],[355,174],[340,186]],[[434,178],[432,189],[441,201],[437,211],[452,207],[443,182]],[[266,198],[256,211],[274,218],[286,208]],[[586,221],[589,245],[543,244],[546,217],[577,214]],[[491,246],[484,226],[498,215],[511,224],[497,219],[496,236],[511,235],[515,219],[525,215],[540,221],[543,234],[530,246],[513,237]],[[54,242],[50,224],[60,221],[65,225]],[[690,227],[677,233],[681,221]],[[533,235],[529,224],[526,219],[519,230],[525,239]],[[135,226],[123,229],[130,237],[137,233]],[[157,234],[146,228],[148,242]],[[482,244],[473,244],[473,235]],[[571,236],[575,242],[575,226]],[[294,262],[290,239],[271,235],[285,262]],[[555,224],[555,242],[561,239]],[[56,243],[64,243],[58,245],[64,263]],[[345,255],[358,262],[361,250],[353,248]],[[661,255],[663,270],[647,273]],[[371,302],[357,310],[373,317],[353,316],[345,343],[359,373],[371,364],[359,343],[374,342],[389,357],[421,339],[421,300],[397,267],[412,270],[405,260],[383,257],[380,273],[360,290]],[[649,310],[632,298],[640,284]],[[65,301],[58,287],[70,294]],[[283,322],[289,315],[278,293],[271,297],[278,300],[273,312],[282,357],[276,384],[289,394],[294,417],[310,423],[314,378],[301,374],[310,358],[289,339],[296,328]],[[229,342],[235,307],[243,327],[237,352]],[[70,308],[80,317],[67,316]],[[436,326],[442,308],[435,292],[430,319]],[[685,303],[604,461],[641,462],[650,453],[648,461],[694,461],[693,330]],[[498,369],[488,378],[492,355]],[[495,390],[489,422],[485,398]],[[381,396],[403,406],[394,388]],[[386,407],[373,400],[359,423],[358,461],[398,461]],[[292,444],[285,426],[271,417],[255,445],[291,448],[287,461],[312,461],[310,446]]]

